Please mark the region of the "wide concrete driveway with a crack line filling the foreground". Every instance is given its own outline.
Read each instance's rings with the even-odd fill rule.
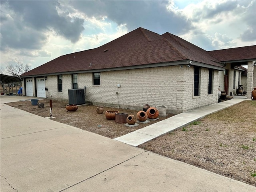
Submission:
[[[27,98],[0,97],[1,192],[256,191],[254,186],[4,104],[22,99]]]

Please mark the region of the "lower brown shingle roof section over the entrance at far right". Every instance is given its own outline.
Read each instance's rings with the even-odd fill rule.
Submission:
[[[208,53],[222,62],[252,60],[256,59],[256,45],[208,51]]]

